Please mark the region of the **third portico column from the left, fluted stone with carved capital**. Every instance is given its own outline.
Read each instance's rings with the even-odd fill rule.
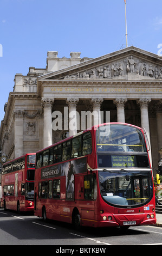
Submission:
[[[103,102],[103,99],[95,98],[91,99],[90,102],[93,105],[93,125],[99,125],[101,124],[101,104]]]

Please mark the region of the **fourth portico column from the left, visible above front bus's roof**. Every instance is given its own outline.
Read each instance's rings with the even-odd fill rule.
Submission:
[[[117,107],[117,120],[118,123],[125,123],[125,111],[124,111],[124,106],[125,103],[127,102],[127,99],[115,99],[114,104]]]

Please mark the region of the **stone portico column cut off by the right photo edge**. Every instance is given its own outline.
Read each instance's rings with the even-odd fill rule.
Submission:
[[[155,106],[157,116],[158,150],[162,157],[162,100]]]

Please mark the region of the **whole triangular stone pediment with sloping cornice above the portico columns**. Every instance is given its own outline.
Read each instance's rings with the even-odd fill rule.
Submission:
[[[162,58],[131,46],[38,77],[52,80],[162,80]]]

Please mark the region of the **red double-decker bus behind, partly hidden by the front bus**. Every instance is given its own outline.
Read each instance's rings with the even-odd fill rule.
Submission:
[[[34,211],[35,156],[35,153],[25,154],[3,164],[2,208]]]

